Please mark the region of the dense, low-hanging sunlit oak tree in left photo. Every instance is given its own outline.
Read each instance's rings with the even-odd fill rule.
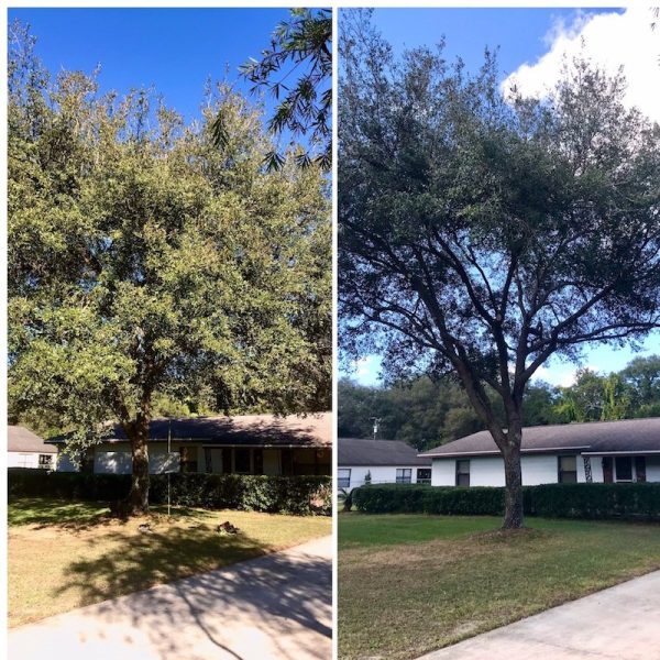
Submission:
[[[52,81],[14,25],[9,65],[10,406],[55,415],[85,451],[119,420],[133,510],[148,505],[156,396],[216,410],[330,405],[327,183],[272,150],[226,87],[199,122],[153,95]],[[212,144],[219,109],[228,141]]]

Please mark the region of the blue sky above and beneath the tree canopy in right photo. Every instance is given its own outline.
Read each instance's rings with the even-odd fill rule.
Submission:
[[[376,9],[373,20],[385,38],[394,46],[395,52],[405,47],[433,45],[442,35],[446,37],[446,55],[449,59],[461,56],[469,69],[477,68],[483,62],[485,46],[491,50],[498,47],[499,65],[503,79],[513,74],[525,64],[534,66],[538,61],[553,50],[553,44],[561,38],[578,35],[580,37],[582,25],[590,18],[604,18],[604,14],[623,14],[616,9]],[[620,25],[609,28],[598,25],[590,29],[588,37],[598,42],[598,34],[607,34],[606,30],[614,29],[619,37],[622,55],[632,53],[635,47],[626,44],[639,42],[635,33],[636,25],[648,24],[646,14],[628,16]],[[617,16],[612,16],[610,23]],[[604,23],[605,21],[603,21]],[[618,32],[616,32],[618,30]],[[607,40],[604,40],[607,44]],[[612,41],[607,47],[610,48]],[[612,50],[612,48],[610,48]],[[637,48],[639,51],[639,48]],[[614,50],[616,51],[616,48]],[[600,53],[593,56],[598,57]],[[657,68],[657,57],[649,57],[653,70]],[[622,62],[626,65],[627,62]],[[639,69],[636,62],[631,67]],[[546,69],[547,70],[547,69]],[[647,85],[647,87],[649,87]],[[637,100],[637,99],[636,99]],[[640,103],[644,99],[640,100]],[[656,101],[653,101],[656,102]],[[650,337],[640,354],[660,353],[660,333]],[[609,373],[623,369],[635,354],[629,349],[610,348],[608,345],[594,345],[584,352],[581,365],[590,366],[596,371]],[[554,385],[570,384],[576,365],[560,360],[551,360],[539,372],[539,376]],[[365,355],[356,370],[350,375],[365,385],[377,384],[380,359],[377,355]]]

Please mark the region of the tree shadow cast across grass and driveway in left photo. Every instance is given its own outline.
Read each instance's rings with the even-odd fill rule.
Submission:
[[[331,638],[330,560],[271,553],[258,562],[209,573],[272,548],[243,534],[221,537],[206,525],[136,535],[124,540],[124,546],[121,552],[73,561],[69,582],[62,591],[75,590],[88,603],[105,601],[95,606],[97,616],[108,625],[129,622],[146,631],[163,658],[195,657],[189,648],[193,634],[242,660],[244,651],[240,642],[232,641],[232,631],[245,626],[260,630],[275,648],[284,645],[284,657],[289,657],[290,648],[285,648],[279,635],[301,626],[316,634],[311,641],[297,638],[298,645],[309,645],[302,649],[305,653],[327,657],[318,636]],[[193,576],[132,593],[183,575]],[[123,598],[106,600],[128,593],[131,595]],[[182,630],[186,632],[180,635]]]

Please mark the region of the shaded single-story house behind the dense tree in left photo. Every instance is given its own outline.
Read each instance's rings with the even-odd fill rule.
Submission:
[[[330,413],[154,419],[148,431],[150,472],[329,475],[331,425]],[[62,450],[66,439],[51,442]],[[131,446],[120,425],[89,450],[80,469],[97,474],[130,474]],[[62,454],[57,470],[72,472],[77,468]]]

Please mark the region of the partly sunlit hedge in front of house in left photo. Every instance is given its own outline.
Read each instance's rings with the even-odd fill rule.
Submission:
[[[131,488],[128,474],[84,474],[12,468],[9,497],[58,497],[112,502]],[[210,509],[296,515],[332,512],[329,476],[262,476],[246,474],[172,474],[172,504]],[[167,502],[167,475],[152,474],[150,502]]]

